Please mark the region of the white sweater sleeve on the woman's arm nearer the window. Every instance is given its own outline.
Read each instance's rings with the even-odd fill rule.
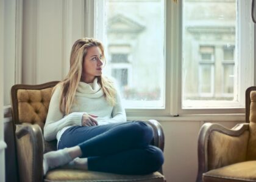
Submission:
[[[111,124],[111,123],[123,123],[126,122],[126,110],[124,110],[123,104],[121,102],[121,96],[116,89],[116,104],[113,107],[112,118],[98,121],[99,125]]]

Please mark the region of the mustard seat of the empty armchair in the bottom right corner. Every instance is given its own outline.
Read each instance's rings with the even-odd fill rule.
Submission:
[[[256,181],[256,161],[246,161],[213,169],[203,174],[204,182]]]

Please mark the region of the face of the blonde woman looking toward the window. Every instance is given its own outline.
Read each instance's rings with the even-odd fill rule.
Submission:
[[[95,76],[100,76],[102,74],[102,58],[102,52],[98,46],[90,47],[87,49],[82,73],[82,80],[85,83],[92,83]]]

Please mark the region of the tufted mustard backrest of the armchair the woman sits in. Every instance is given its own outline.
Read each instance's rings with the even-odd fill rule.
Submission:
[[[43,131],[52,89],[59,81],[40,85],[16,84],[11,89],[13,126],[38,124]],[[44,142],[44,152],[56,149],[56,141]]]

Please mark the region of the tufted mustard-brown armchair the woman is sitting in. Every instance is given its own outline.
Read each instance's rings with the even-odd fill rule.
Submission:
[[[165,181],[160,172],[149,175],[118,175],[60,167],[43,176],[43,153],[56,150],[57,141],[43,138],[43,127],[51,100],[53,81],[40,85],[17,84],[11,89],[15,146],[20,181]],[[163,150],[164,135],[160,124],[147,121],[154,129],[152,144]],[[125,164],[124,164],[125,165]]]

